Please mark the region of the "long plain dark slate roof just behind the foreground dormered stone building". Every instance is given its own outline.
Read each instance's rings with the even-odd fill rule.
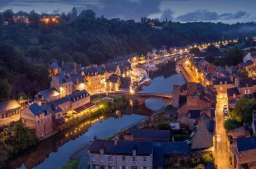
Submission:
[[[143,140],[170,140],[170,130],[152,130],[152,129],[131,129],[129,130],[135,139]]]

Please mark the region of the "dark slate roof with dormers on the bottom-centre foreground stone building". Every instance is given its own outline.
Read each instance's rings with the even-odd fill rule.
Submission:
[[[136,155],[149,155],[153,153],[152,142],[118,140],[95,140],[90,144],[90,153],[99,154],[100,148],[104,148],[104,154],[127,154],[132,155],[132,149],[136,149]]]

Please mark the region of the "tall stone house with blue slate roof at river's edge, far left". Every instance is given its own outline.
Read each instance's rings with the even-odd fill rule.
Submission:
[[[53,131],[52,115],[45,105],[33,103],[24,108],[20,112],[20,120],[26,127],[34,129],[38,138],[49,135]]]

